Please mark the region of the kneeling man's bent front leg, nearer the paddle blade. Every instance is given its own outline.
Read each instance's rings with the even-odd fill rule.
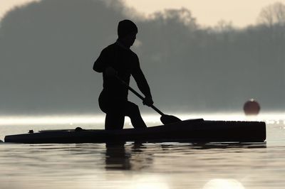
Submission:
[[[134,104],[133,102],[127,102],[125,115],[130,117],[130,121],[132,122],[135,129],[147,127],[145,125],[145,121],[143,121],[140,115],[140,109],[138,109],[138,105]]]

